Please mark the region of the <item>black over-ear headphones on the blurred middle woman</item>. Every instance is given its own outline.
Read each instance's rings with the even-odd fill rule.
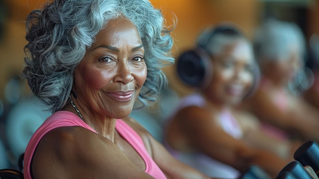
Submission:
[[[234,25],[220,24],[218,27],[204,32],[197,42],[194,49],[186,50],[177,59],[177,74],[180,80],[191,87],[204,88],[212,76],[211,54],[208,45],[213,37],[217,34],[229,36],[244,36]],[[255,90],[259,82],[259,68],[257,64],[253,67],[254,82],[249,94]]]

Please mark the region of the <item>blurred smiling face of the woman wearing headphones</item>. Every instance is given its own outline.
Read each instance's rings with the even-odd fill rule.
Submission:
[[[214,103],[236,105],[240,103],[252,86],[253,53],[244,39],[227,44],[222,52],[212,57],[213,76],[204,90]]]

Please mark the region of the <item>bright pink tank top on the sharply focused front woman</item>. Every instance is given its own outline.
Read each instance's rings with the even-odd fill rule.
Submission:
[[[35,152],[35,149],[42,139],[42,137],[49,131],[54,130],[62,126],[82,126],[87,130],[96,133],[87,123],[85,123],[81,118],[77,117],[75,114],[68,111],[58,111],[52,114],[48,119],[46,119],[39,129],[33,134],[29,141],[28,146],[26,146],[24,153],[24,166],[23,175],[24,179],[31,179],[31,162]],[[165,174],[156,165],[153,159],[149,156],[142,138],[123,120],[118,119],[116,121],[116,130],[118,133],[138,152],[141,158],[145,162],[145,172],[154,178],[166,178]]]

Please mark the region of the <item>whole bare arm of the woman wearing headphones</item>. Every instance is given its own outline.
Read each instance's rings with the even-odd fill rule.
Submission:
[[[272,152],[252,149],[242,140],[228,135],[217,120],[214,120],[214,114],[210,111],[194,108],[181,112],[178,120],[184,135],[188,136],[193,148],[211,158],[242,172],[255,164],[274,174],[286,164]],[[273,162],[276,164],[269,164]]]

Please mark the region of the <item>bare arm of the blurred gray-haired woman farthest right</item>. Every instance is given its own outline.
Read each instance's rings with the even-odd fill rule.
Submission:
[[[261,120],[289,133],[297,132],[298,136],[306,140],[318,141],[319,113],[300,98],[288,97],[288,99],[286,108],[282,109],[271,100],[269,94],[258,90],[249,100],[249,106]]]

